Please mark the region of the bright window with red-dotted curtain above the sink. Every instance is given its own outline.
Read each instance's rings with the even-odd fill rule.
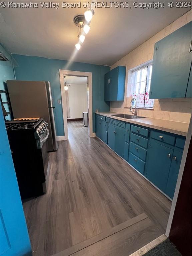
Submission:
[[[132,72],[130,96],[137,100],[137,107],[153,107],[154,99],[149,99],[151,73],[152,64],[144,66]]]

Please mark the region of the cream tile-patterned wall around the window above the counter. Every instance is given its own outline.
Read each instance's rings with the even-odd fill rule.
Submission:
[[[191,21],[191,10],[175,20],[169,26],[162,29],[156,35],[148,39],[146,42],[135,48],[122,59],[111,66],[111,69],[117,66],[126,66],[126,84],[125,84],[125,100],[113,101],[110,103],[110,111],[119,113],[128,113],[131,99],[126,99],[127,88],[131,87],[131,72],[129,70],[137,67],[151,59],[153,59],[154,44],[171,34],[178,28],[184,26]],[[152,24],[151,24],[152,25]],[[139,116],[167,119],[173,121],[189,123],[191,117],[191,98],[182,99],[161,99],[155,100],[154,109],[138,109]]]

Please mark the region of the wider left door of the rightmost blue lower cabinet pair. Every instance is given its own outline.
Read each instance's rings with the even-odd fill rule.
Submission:
[[[148,162],[145,176],[155,186],[166,193],[167,179],[173,157],[173,149],[151,139],[148,148]]]

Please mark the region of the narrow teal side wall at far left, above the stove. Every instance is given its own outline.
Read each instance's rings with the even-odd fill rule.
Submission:
[[[0,61],[0,90],[6,89],[6,80],[15,80],[12,56],[0,45],[2,52],[9,61]]]

